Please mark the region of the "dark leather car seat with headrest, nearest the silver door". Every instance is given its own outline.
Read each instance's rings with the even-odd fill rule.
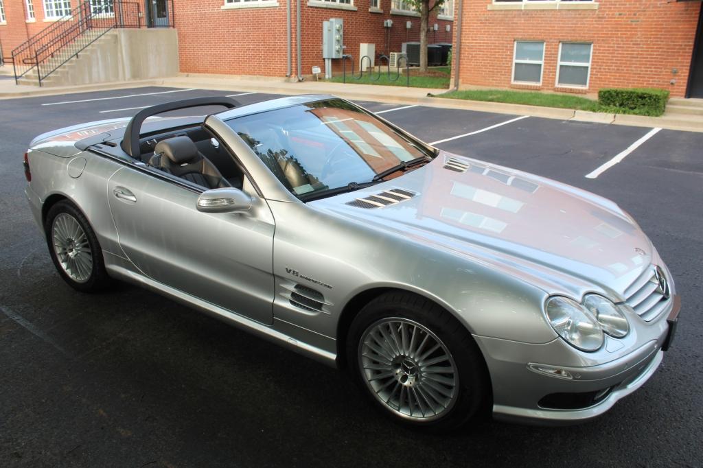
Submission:
[[[231,187],[187,136],[174,136],[157,143],[149,165],[205,188]]]

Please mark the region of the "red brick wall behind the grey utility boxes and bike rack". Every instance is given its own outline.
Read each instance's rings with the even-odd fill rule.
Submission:
[[[224,0],[174,0],[176,29],[179,32],[181,72],[250,74],[283,77],[287,72],[286,8],[291,9],[292,74],[297,73],[295,20],[296,4],[278,0],[277,7],[237,8],[223,10]],[[359,44],[376,44],[376,53],[386,51],[387,32],[383,20],[392,19],[390,51],[400,51],[406,41],[406,21],[413,22],[407,33],[410,41],[420,39],[420,18],[391,15],[390,0],[380,0],[383,13],[371,13],[370,0],[356,0],[356,11],[301,4],[302,74],[311,74],[311,67],[324,67],[322,58],[322,25],[330,18],[344,19],[344,45],[358,65]],[[445,25],[433,13],[430,26],[437,22],[437,41],[451,41]],[[452,26],[453,28],[453,26]],[[428,41],[434,42],[434,32]],[[341,61],[334,60],[334,70],[341,70]],[[355,66],[357,66],[355,65]]]

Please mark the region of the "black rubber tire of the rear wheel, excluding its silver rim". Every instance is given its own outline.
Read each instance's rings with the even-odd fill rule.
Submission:
[[[86,238],[88,239],[88,245],[91,249],[91,256],[93,259],[93,267],[91,269],[90,277],[86,282],[77,282],[67,275],[63,269],[63,266],[61,266],[58,256],[56,255],[56,251],[53,247],[53,221],[56,219],[56,216],[63,213],[69,214],[76,221],[78,221],[79,225],[83,229],[83,232],[86,234]],[[61,201],[54,204],[46,214],[46,220],[44,221],[44,233],[46,235],[46,245],[49,247],[51,261],[53,261],[54,266],[56,266],[56,270],[61,278],[63,278],[63,280],[67,282],[70,287],[80,292],[96,292],[105,287],[108,275],[105,272],[103,251],[100,247],[100,243],[98,242],[98,238],[88,222],[88,219],[86,219],[86,216],[79,209],[77,209],[74,204],[68,201]]]

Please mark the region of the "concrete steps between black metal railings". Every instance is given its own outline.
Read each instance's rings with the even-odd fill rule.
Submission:
[[[41,63],[40,67],[42,74],[46,74],[46,71],[56,69],[49,75],[49,77],[42,80],[41,85],[66,86],[71,84],[88,84],[83,83],[80,77],[72,76],[75,75],[74,70],[80,63],[89,63],[90,60],[93,60],[94,62],[95,56],[100,53],[101,48],[103,48],[103,44],[106,44],[109,41],[114,42],[116,34],[116,31],[108,31],[82,51],[80,49],[84,47],[84,44],[82,44],[79,40],[63,46],[63,48],[61,48],[61,50],[58,51],[53,57],[49,58],[49,60],[45,60],[44,63]],[[75,56],[77,52],[78,56]],[[18,80],[18,84],[24,86],[39,86],[37,68],[32,68],[32,70],[21,77]]]

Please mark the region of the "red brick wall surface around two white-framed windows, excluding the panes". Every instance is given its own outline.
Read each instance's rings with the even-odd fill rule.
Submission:
[[[647,86],[685,95],[699,1],[602,0],[597,10],[496,11],[489,6],[490,0],[464,1],[460,86],[588,93]],[[511,84],[515,40],[545,41],[541,86]],[[587,91],[555,86],[560,41],[593,43]],[[672,79],[676,84],[670,84]]]

